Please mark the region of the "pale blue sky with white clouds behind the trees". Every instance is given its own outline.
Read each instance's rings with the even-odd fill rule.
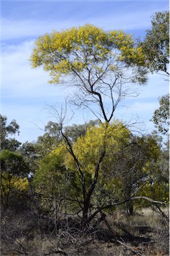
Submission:
[[[21,142],[36,141],[48,121],[56,121],[49,105],[58,108],[71,89],[48,83],[43,69],[32,69],[29,62],[34,42],[54,29],[62,31],[90,23],[104,30],[123,29],[143,39],[151,29],[151,15],[169,9],[167,0],[110,1],[8,1],[1,0],[1,114],[20,126]],[[139,96],[122,101],[115,118],[139,122],[143,133],[154,129],[150,119],[159,107],[158,98],[169,91],[163,76],[149,74]],[[84,123],[95,117],[87,110],[75,110],[71,123]],[[69,124],[71,124],[69,123]]]

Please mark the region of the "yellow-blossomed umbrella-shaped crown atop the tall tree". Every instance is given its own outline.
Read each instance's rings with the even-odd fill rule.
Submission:
[[[33,67],[43,65],[55,75],[67,75],[83,71],[94,63],[105,63],[117,49],[117,59],[142,65],[144,55],[141,47],[135,47],[131,35],[123,31],[109,33],[93,25],[73,27],[65,31],[53,31],[37,39],[31,55]],[[50,73],[51,82],[59,83],[59,77]]]

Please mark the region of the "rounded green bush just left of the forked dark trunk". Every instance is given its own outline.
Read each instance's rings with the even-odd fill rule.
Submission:
[[[42,206],[51,209],[54,201],[60,200],[67,192],[67,169],[65,169],[65,148],[60,145],[40,162],[35,172],[33,186],[42,195]]]

